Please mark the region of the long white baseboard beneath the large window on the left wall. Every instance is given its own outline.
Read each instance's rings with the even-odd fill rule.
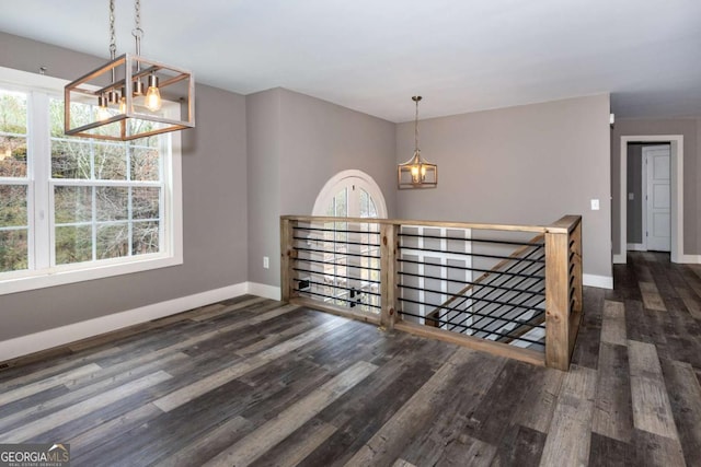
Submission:
[[[249,293],[242,282],[0,342],[0,362]]]

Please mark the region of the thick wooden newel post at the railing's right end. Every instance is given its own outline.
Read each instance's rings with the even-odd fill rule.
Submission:
[[[570,367],[568,233],[545,233],[545,365]]]

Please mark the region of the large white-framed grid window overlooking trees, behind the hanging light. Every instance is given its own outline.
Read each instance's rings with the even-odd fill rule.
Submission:
[[[64,84],[0,69],[0,293],[182,262],[180,136],[67,137]]]

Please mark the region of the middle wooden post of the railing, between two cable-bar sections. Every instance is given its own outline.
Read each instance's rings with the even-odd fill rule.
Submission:
[[[397,315],[398,230],[395,224],[380,224],[380,324],[393,329]]]

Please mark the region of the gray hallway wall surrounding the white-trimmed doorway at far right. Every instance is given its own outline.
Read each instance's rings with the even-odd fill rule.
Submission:
[[[613,253],[621,253],[620,236],[620,145],[622,136],[683,136],[683,253],[701,254],[701,118],[616,120],[611,132],[611,196]],[[630,242],[630,241],[629,241]],[[623,245],[625,249],[625,245]]]

